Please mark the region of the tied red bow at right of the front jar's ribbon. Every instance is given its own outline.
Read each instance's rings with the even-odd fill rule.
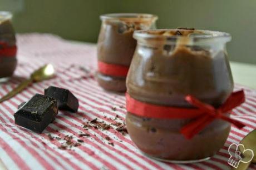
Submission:
[[[204,116],[199,117],[195,121],[186,124],[183,128],[181,128],[180,132],[184,134],[184,136],[188,139],[193,138],[195,134],[199,133],[202,129],[205,128],[205,126],[213,122],[215,118],[223,119],[224,121],[233,123],[239,129],[245,126],[242,122],[239,122],[224,115],[245,101],[243,90],[232,93],[227,101],[217,109],[215,109],[213,106],[210,106],[209,104],[199,101],[198,99],[190,95],[186,96],[185,99],[190,104],[205,113]]]

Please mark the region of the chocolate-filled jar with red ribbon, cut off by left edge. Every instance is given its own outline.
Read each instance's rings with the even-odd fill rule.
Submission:
[[[11,77],[16,65],[16,38],[12,14],[0,11],[0,78]]]

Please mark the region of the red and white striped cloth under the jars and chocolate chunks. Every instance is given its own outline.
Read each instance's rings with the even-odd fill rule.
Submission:
[[[256,91],[236,84],[235,90],[244,88],[246,102],[233,110],[232,117],[244,122],[243,129],[232,127],[225,146],[208,161],[194,164],[171,164],[145,157],[132,143],[129,135],[123,136],[114,128],[83,128],[83,123],[98,118],[111,123],[116,114],[125,121],[125,97],[102,90],[93,78],[96,67],[94,44],[65,41],[50,34],[22,34],[18,39],[18,68],[15,76],[0,86],[0,96],[11,91],[38,67],[52,63],[57,77],[35,83],[16,97],[0,104],[0,159],[7,169],[230,169],[228,147],[239,143],[256,128]],[[90,70],[90,72],[87,72]],[[78,113],[60,111],[56,120],[42,134],[37,134],[14,124],[13,113],[21,102],[28,101],[35,93],[43,93],[48,86],[68,88],[79,99]],[[115,107],[115,109],[112,109]],[[79,133],[89,133],[90,138]],[[82,139],[79,147],[62,150],[63,143],[52,137],[72,135]],[[110,137],[114,146],[104,139]],[[249,169],[256,169],[251,165]]]

